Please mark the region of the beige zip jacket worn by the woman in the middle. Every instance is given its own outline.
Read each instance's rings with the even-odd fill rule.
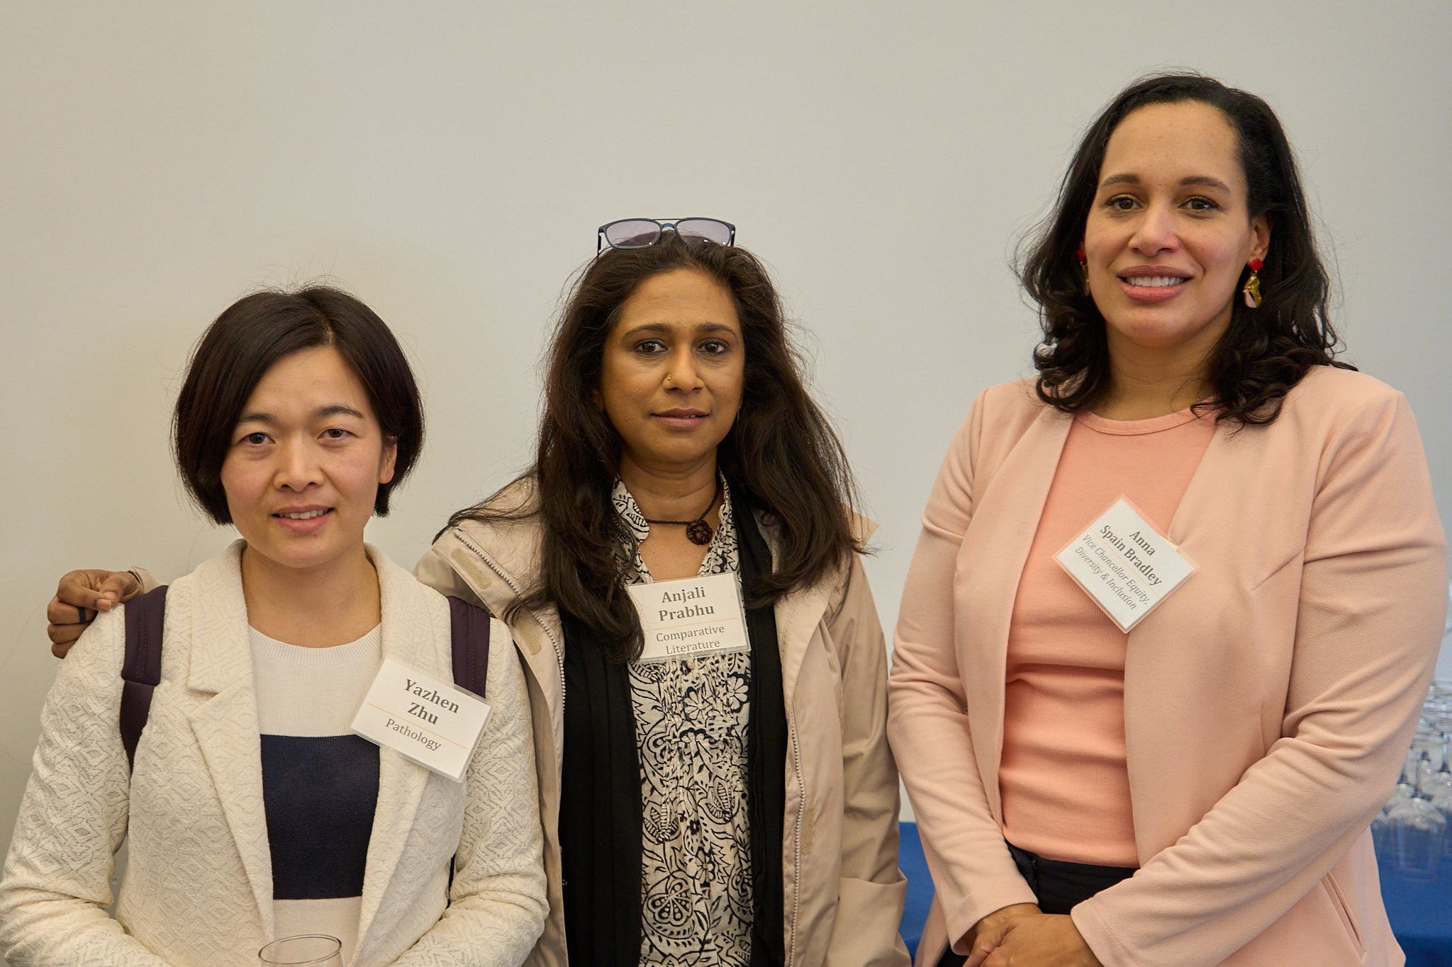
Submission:
[[[504,506],[529,499],[527,483],[501,497]],[[762,534],[772,544],[767,522]],[[440,535],[414,574],[504,615],[536,580],[537,560],[533,520],[465,522]],[[887,651],[861,563],[839,581],[786,596],[775,618],[791,742],[781,847],[787,967],[906,967],[897,937],[906,880],[897,870],[897,773],[886,734]],[[526,963],[563,967],[563,636],[553,607],[520,612],[510,631],[534,718],[550,905]]]

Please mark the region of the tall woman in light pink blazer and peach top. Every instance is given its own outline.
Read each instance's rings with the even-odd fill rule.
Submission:
[[[1022,278],[1038,377],[954,438],[896,632],[918,963],[1401,964],[1368,823],[1445,542],[1406,400],[1334,361],[1275,115],[1198,75],[1127,88]],[[1056,560],[1118,497],[1162,574],[1195,568],[1128,632]]]

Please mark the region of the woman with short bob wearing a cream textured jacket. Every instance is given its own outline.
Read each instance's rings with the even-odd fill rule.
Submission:
[[[446,683],[453,665],[450,605],[363,541],[423,441],[393,335],[331,289],[248,296],[197,344],[174,428],[187,489],[242,539],[163,599],[134,760],[125,612],[151,602],[99,618],[61,667],[0,881],[6,963],[250,967],[327,934],[347,963],[518,964],[544,876],[508,631],[462,781],[351,728],[385,660]]]

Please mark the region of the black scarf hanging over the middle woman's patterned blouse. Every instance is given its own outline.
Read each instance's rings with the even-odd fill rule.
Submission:
[[[751,831],[751,967],[784,961],[781,842],[787,713],[781,652],[770,605],[749,606],[756,577],[771,571],[751,506],[732,487],[741,583],[751,641],[746,805]],[[605,657],[598,636],[560,610],[565,631],[565,761],[559,844],[569,961],[632,967],[640,961],[640,754],[630,671]]]

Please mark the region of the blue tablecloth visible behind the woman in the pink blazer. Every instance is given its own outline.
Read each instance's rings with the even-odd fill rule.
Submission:
[[[908,950],[916,951],[922,926],[932,903],[932,879],[922,855],[918,823],[902,823],[902,850],[897,866],[908,877],[908,906],[903,909],[902,934]],[[1452,967],[1452,860],[1442,866],[1437,879],[1427,883],[1408,880],[1382,863],[1381,896],[1397,941],[1407,951],[1407,967]]]

